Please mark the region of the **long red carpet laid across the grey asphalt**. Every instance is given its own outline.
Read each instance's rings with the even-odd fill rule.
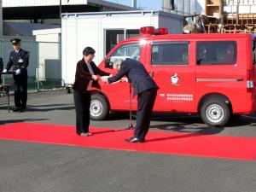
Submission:
[[[15,123],[0,125],[0,139],[52,143],[137,152],[180,154],[236,160],[256,160],[256,138],[219,137],[150,131],[146,143],[126,143],[133,131],[90,128],[92,137],[79,137],[70,125]]]

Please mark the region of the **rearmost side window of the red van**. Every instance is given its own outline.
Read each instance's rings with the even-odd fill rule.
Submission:
[[[232,65],[235,63],[235,41],[201,41],[196,43],[197,65]]]

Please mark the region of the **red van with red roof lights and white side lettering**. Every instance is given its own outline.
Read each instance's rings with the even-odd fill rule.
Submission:
[[[256,35],[246,33],[166,34],[152,26],[117,44],[109,61],[141,61],[159,85],[154,112],[199,113],[209,126],[256,111]],[[99,65],[104,71],[113,68]],[[129,84],[101,84],[91,98],[90,118],[130,109]],[[137,110],[137,98],[131,109]]]

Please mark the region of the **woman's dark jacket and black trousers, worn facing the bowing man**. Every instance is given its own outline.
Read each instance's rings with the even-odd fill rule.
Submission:
[[[90,67],[95,75],[110,75],[110,73],[103,72],[100,68],[96,67],[96,64],[91,61]],[[75,82],[73,84],[73,98],[76,109],[76,128],[77,134],[89,131],[90,125],[90,90],[87,90],[88,84],[92,80],[92,74],[82,59],[77,64]],[[93,81],[92,87],[101,89],[98,81]]]

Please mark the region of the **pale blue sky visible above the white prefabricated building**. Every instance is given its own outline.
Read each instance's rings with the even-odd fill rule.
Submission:
[[[112,3],[120,3],[131,6],[132,0],[105,0]],[[161,0],[137,0],[137,8],[143,9],[161,9]]]

